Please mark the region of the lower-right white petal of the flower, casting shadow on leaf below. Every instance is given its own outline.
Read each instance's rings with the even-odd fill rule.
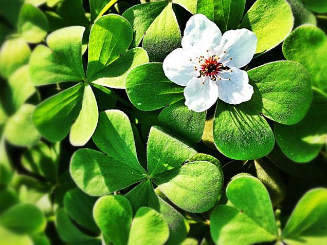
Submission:
[[[247,72],[236,67],[231,67],[233,72],[220,74],[222,78],[230,79],[217,80],[219,99],[228,104],[240,104],[251,99],[253,87],[249,84]]]

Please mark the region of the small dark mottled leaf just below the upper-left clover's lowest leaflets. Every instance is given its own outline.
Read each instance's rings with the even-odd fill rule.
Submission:
[[[28,171],[56,182],[58,166],[56,156],[53,155],[47,144],[40,141],[24,153],[22,164]]]

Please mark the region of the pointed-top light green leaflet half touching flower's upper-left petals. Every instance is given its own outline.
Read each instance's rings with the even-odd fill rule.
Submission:
[[[169,53],[180,46],[180,42],[177,18],[172,3],[169,3],[146,31],[142,47],[147,50],[150,60],[162,62]]]

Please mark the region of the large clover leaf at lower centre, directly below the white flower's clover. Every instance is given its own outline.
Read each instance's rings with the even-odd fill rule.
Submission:
[[[150,130],[148,173],[138,162],[132,127],[123,112],[101,112],[93,140],[105,154],[79,149],[70,163],[72,178],[89,195],[112,193],[150,179],[173,203],[190,212],[207,211],[219,196],[221,169],[207,161],[182,165],[195,150],[161,128]],[[178,154],[175,147],[179,149]]]

